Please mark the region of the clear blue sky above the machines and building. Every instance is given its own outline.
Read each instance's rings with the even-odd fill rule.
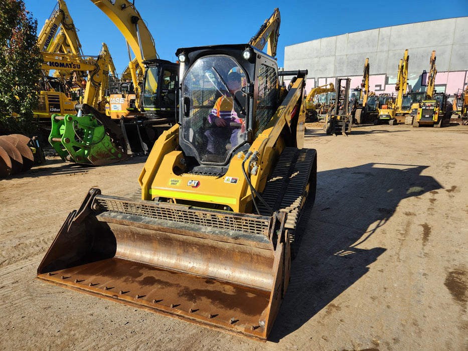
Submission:
[[[39,34],[57,1],[24,0],[24,3],[38,21]],[[178,48],[247,43],[277,7],[281,16],[276,55],[280,67],[288,45],[380,27],[468,16],[468,0],[373,3],[134,0],[134,3],[154,38],[156,51],[162,59],[173,62]],[[123,35],[90,0],[68,0],[66,4],[79,30],[83,53],[97,55],[102,43],[106,43],[117,73],[121,73],[128,65]]]

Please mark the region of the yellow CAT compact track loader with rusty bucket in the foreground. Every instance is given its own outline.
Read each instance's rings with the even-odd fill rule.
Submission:
[[[37,276],[265,340],[288,285],[296,224],[315,200],[317,153],[302,148],[306,71],[283,72],[295,75],[287,90],[276,61],[249,44],[176,55],[178,123],[148,155],[142,200],[91,189]],[[242,81],[235,93],[231,76]],[[216,122],[219,99],[239,122]]]

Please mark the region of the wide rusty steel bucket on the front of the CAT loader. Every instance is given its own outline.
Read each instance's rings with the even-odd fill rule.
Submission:
[[[286,215],[207,210],[91,189],[37,276],[101,298],[265,340],[289,280]]]

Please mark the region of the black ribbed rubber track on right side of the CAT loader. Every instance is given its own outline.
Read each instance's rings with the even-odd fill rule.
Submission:
[[[294,230],[299,219],[316,150],[285,147],[273,169],[265,189],[260,194],[273,211],[287,213],[286,228]],[[258,201],[260,214],[269,216]]]

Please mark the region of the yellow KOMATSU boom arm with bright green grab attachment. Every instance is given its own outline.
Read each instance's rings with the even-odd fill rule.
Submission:
[[[131,151],[124,130],[106,116],[104,110],[108,51],[103,50],[95,59],[76,56],[72,59],[70,54],[43,53],[43,56],[46,67],[89,70],[84,103],[73,106],[74,109],[78,107],[78,113],[54,113],[51,116],[49,142],[59,156],[67,161],[94,165],[126,159]]]

